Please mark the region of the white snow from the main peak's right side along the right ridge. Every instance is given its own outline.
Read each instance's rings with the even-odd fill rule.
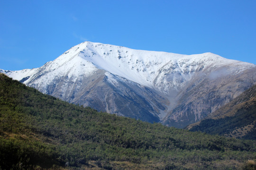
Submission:
[[[225,59],[212,53],[182,55],[158,51],[133,50],[126,47],[93,42],[83,42],[77,48],[85,48],[79,53],[79,56],[90,61],[97,68],[125,77],[138,84],[155,88],[159,88],[161,82],[159,77],[164,77],[166,70],[170,70],[170,68],[172,68],[172,72],[176,73],[176,75],[177,73],[182,74],[181,81],[186,82],[186,80],[191,79],[194,72],[204,68],[213,69],[224,65],[237,64],[239,69],[237,70],[237,67],[235,69],[243,71],[248,67],[255,67],[255,65],[250,63]],[[232,72],[232,70],[229,71]],[[175,81],[175,79],[180,80],[180,77],[174,75],[170,79],[173,81],[175,88],[178,86],[182,88],[185,83]]]

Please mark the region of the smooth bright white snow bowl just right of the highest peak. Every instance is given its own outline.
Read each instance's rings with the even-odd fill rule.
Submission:
[[[159,68],[171,59],[184,56],[92,42],[84,42],[80,45],[86,45],[86,48],[81,51],[79,56],[95,64],[98,68],[146,86],[152,86]]]

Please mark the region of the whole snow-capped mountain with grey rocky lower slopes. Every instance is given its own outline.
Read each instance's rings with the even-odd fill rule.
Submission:
[[[83,42],[40,68],[0,72],[65,101],[184,127],[256,84],[256,65]]]

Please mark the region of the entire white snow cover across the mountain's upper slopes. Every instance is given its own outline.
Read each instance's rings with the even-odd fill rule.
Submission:
[[[238,74],[247,68],[255,67],[254,64],[225,59],[212,53],[182,55],[133,50],[96,42],[82,42],[40,68],[0,71],[17,80],[30,76],[24,81],[25,84],[33,79],[33,76],[38,76],[37,73],[40,73],[41,78],[38,79],[40,82],[34,83],[39,83],[40,86],[46,88],[48,83],[53,82],[59,76],[67,74],[68,78],[75,81],[81,76],[86,77],[93,74],[97,69],[104,69],[140,85],[168,93],[168,88],[182,88],[194,73],[203,69],[209,69],[209,72],[212,72],[209,76],[214,78],[219,74],[219,71],[215,69],[224,65],[233,65],[234,67],[221,71],[221,74],[225,74],[225,72]],[[106,76],[110,75],[106,74]]]

